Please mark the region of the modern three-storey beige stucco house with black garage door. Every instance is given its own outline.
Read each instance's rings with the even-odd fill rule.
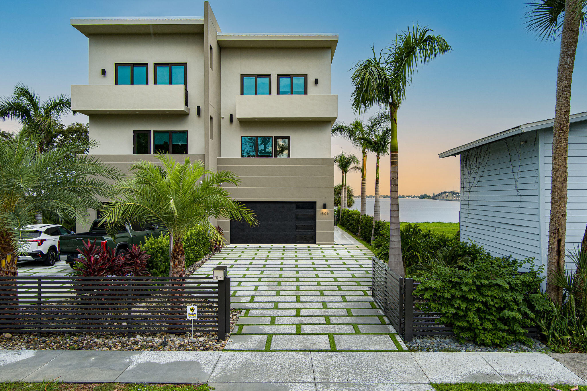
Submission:
[[[163,151],[235,172],[232,196],[261,224],[219,220],[230,243],[333,243],[337,35],[222,33],[208,2],[199,18],[71,24],[89,42],[72,110],[89,115],[90,154],[126,170]]]

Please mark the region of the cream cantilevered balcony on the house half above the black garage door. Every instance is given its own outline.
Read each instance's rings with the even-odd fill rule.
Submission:
[[[335,121],[338,95],[237,95],[239,121]]]

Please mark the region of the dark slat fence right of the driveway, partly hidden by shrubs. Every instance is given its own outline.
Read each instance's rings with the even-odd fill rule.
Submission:
[[[373,257],[373,300],[383,310],[396,331],[410,342],[414,335],[454,335],[453,328],[438,324],[438,312],[418,308],[426,299],[415,296],[419,285],[413,278],[398,277],[387,264]],[[537,336],[538,329],[527,328],[528,336]]]

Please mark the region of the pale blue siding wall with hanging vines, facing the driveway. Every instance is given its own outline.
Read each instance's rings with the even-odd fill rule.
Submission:
[[[461,154],[461,240],[541,259],[538,151],[531,131]]]

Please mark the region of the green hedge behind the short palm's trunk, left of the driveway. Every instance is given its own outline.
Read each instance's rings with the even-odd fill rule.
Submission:
[[[183,238],[185,267],[190,267],[212,251],[212,236],[208,227],[201,225],[188,230]],[[147,268],[152,276],[169,276],[169,235],[151,236],[143,249],[151,256]]]

